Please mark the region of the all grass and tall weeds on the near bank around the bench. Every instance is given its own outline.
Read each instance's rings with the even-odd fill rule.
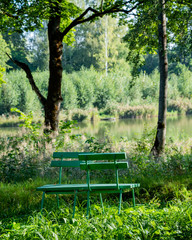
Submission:
[[[116,142],[109,136],[102,143],[94,138],[58,137],[51,141],[27,132],[6,142],[0,138],[1,239],[192,239],[192,139],[169,143],[165,156],[157,161],[149,156],[153,132],[144,133],[137,142]],[[59,151],[125,151],[131,171],[129,176],[122,172],[120,181],[131,177],[141,184],[136,189],[139,205],[132,208],[131,193],[125,193],[118,215],[118,195],[104,195],[102,214],[98,196],[93,195],[91,216],[86,219],[86,196],[80,195],[72,219],[73,196],[60,196],[58,210],[55,196],[49,195],[41,214],[41,193],[35,189],[56,182],[55,172],[48,167],[55,142]],[[77,171],[69,175],[71,181],[82,177]]]

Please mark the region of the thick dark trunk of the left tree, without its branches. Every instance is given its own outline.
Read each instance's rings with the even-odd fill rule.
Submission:
[[[49,87],[45,110],[45,127],[47,130],[56,131],[59,122],[62,81],[62,35],[59,31],[60,17],[53,17],[48,23],[49,38]]]

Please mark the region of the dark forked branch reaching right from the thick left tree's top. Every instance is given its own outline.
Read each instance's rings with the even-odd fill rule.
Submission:
[[[128,3],[128,2],[127,2]],[[117,13],[117,12],[123,12],[126,14],[131,13],[133,10],[135,10],[140,4],[144,3],[144,1],[138,2],[137,4],[135,4],[131,9],[129,10],[125,10],[123,8],[118,8],[118,6],[114,6],[112,8],[109,8],[105,11],[97,11],[91,7],[87,8],[79,17],[77,17],[76,19],[74,19],[71,24],[69,24],[68,27],[65,28],[65,30],[61,33],[62,37],[64,37],[73,27],[81,24],[81,23],[85,23],[85,22],[89,22],[97,17],[103,17],[106,14],[109,13]],[[87,18],[84,18],[84,16],[87,15],[88,12],[93,12],[93,14]]]

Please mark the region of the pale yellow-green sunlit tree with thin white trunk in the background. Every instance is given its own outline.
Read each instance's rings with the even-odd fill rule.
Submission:
[[[87,42],[97,60],[97,68],[105,70],[107,75],[120,59],[122,52],[126,58],[127,49],[125,43],[121,41],[126,33],[125,27],[118,26],[118,19],[105,16],[97,23],[95,29],[97,37],[88,33]]]

